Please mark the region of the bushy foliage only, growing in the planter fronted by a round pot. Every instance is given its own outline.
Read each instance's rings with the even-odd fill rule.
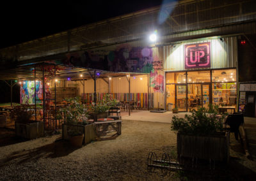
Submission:
[[[66,98],[69,104],[64,108],[60,108],[57,113],[57,118],[65,118],[66,122],[71,124],[88,124],[88,109],[85,105],[79,103],[79,98]]]

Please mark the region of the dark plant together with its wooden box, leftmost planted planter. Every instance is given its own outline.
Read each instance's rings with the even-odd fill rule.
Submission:
[[[22,138],[35,139],[44,136],[44,122],[31,120],[34,109],[30,105],[13,106],[12,117],[15,120],[15,134]]]

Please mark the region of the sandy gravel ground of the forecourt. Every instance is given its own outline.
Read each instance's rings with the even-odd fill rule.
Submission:
[[[218,174],[148,170],[150,151],[175,157],[176,134],[167,123],[125,120],[115,140],[82,148],[72,148],[60,138],[59,134],[0,147],[0,180],[248,180],[254,174],[244,167],[243,150],[236,142],[230,149],[231,166]]]

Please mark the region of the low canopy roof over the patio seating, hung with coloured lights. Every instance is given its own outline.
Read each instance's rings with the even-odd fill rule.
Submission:
[[[56,67],[56,76],[54,76],[54,68]],[[36,64],[29,64],[24,66],[19,66],[17,68],[2,69],[0,71],[0,80],[42,80],[44,76],[46,78],[58,78],[70,80],[83,80],[92,79],[94,76],[94,71],[97,78],[109,78],[118,76],[136,76],[143,75],[145,73],[128,73],[128,72],[111,72],[103,71],[98,69],[86,69],[86,68],[76,68],[71,66],[63,66],[60,64],[52,64],[49,62],[40,62]],[[36,72],[36,73],[35,73]],[[83,75],[83,76],[81,76]]]

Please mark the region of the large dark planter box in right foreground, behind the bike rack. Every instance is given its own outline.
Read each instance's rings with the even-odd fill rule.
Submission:
[[[177,134],[177,152],[180,157],[197,157],[213,161],[229,160],[229,133],[221,132],[211,136]]]

